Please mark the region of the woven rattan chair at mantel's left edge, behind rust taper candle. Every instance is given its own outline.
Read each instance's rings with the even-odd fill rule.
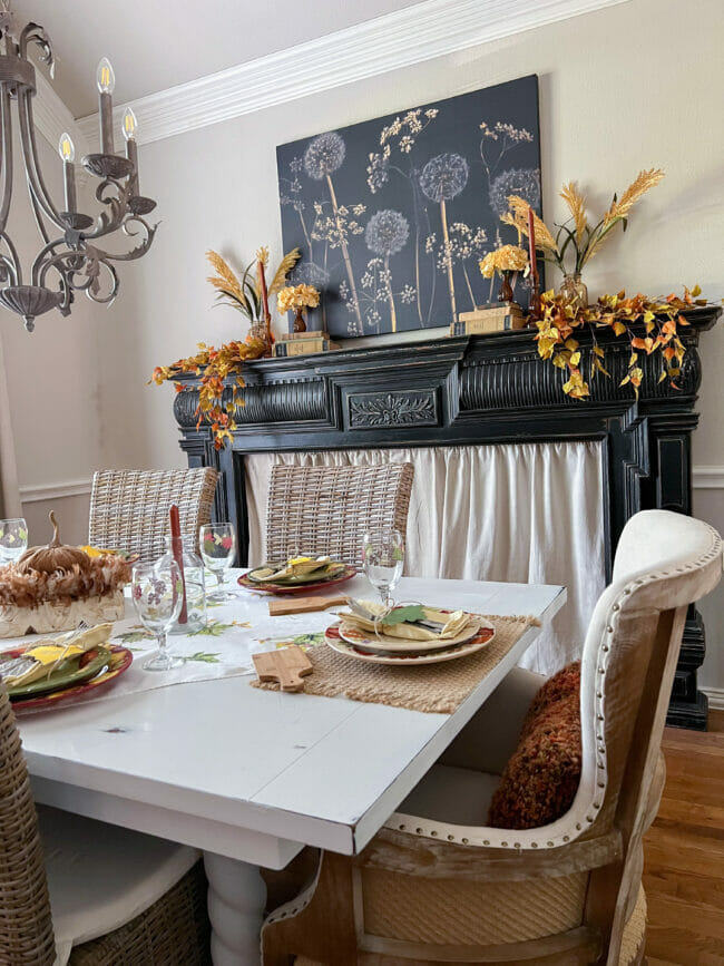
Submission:
[[[212,518],[218,474],[211,467],[172,470],[115,470],[94,474],[88,543],[138,554],[144,563],[165,550],[168,510],[178,506],[182,534],[193,534]]]

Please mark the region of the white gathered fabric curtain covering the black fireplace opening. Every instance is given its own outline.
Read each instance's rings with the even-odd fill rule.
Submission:
[[[562,584],[568,603],[520,662],[551,674],[580,657],[605,586],[601,448],[594,442],[254,453],[245,459],[250,562],[265,556],[274,462],[409,461],[414,485],[405,573]]]

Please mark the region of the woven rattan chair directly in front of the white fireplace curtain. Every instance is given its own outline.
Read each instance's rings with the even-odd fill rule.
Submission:
[[[361,568],[365,530],[394,527],[407,533],[414,467],[272,467],[266,510],[266,558],[329,554]]]

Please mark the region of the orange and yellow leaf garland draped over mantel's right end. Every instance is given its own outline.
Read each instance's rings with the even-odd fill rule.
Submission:
[[[590,394],[590,389],[581,369],[584,357],[575,333],[583,326],[588,326],[593,333],[594,344],[586,360],[588,378],[594,379],[598,372],[610,378],[603,363],[604,350],[596,342],[596,332],[608,328],[616,335],[627,335],[630,344],[626,374],[619,386],[633,386],[638,396],[644,378],[642,355],[658,352],[662,360],[658,381],[668,378],[671,386],[678,389],[676,378],[681,374],[686,350],[677,325],[688,325],[681,314],[683,310],[707,304],[706,300],[697,299],[699,294],[698,285],[691,291],[685,287],[683,297],[671,294],[665,299],[648,299],[638,294],[627,299],[625,292],[619,292],[617,295],[603,295],[596,305],[583,309],[552,291],[544,292],[540,296],[541,318],[536,320],[538,354],[567,371],[568,379],[562,387],[565,393],[584,399]],[[636,334],[642,329],[643,334]]]

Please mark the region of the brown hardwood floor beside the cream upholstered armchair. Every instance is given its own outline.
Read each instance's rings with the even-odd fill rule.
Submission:
[[[724,966],[724,711],[668,728],[666,788],[645,846],[649,966]]]

